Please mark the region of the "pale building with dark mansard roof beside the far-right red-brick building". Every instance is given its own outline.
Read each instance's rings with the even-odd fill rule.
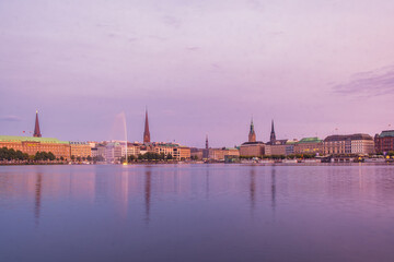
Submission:
[[[323,144],[326,155],[374,153],[374,142],[369,134],[328,135]]]

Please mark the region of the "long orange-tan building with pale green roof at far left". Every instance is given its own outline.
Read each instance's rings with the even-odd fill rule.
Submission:
[[[51,152],[56,158],[70,159],[70,144],[53,138],[0,135],[0,147],[22,151],[28,155]]]

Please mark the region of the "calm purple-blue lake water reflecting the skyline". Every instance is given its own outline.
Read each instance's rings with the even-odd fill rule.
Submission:
[[[0,261],[394,261],[394,166],[0,167]]]

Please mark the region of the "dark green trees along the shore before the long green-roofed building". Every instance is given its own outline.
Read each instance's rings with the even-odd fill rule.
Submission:
[[[63,157],[60,157],[61,160]],[[28,155],[14,148],[0,148],[0,160],[55,160],[56,156],[51,152],[37,152],[35,155]]]

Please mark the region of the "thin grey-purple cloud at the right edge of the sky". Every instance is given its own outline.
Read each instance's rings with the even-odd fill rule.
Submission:
[[[394,94],[394,66],[359,72],[348,83],[334,85],[339,94],[381,96]]]

